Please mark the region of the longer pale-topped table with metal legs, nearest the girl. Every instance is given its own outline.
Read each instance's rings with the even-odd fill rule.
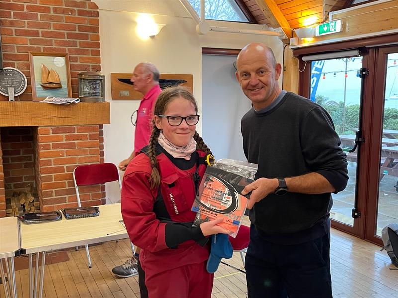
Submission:
[[[42,252],[39,298],[43,294],[44,264],[46,251],[75,247],[85,244],[128,238],[120,224],[120,203],[100,205],[100,215],[81,219],[40,224],[20,224],[21,251],[29,255],[29,293],[36,298],[39,253]],[[36,253],[36,270],[33,280],[33,253]],[[33,285],[34,283],[34,285]]]

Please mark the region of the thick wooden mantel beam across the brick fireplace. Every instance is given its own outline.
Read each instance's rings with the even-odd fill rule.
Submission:
[[[79,102],[60,105],[37,101],[0,101],[0,127],[109,123],[109,102]]]

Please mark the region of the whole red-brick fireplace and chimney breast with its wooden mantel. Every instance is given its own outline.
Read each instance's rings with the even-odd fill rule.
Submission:
[[[32,102],[28,53],[69,53],[77,97],[77,74],[101,69],[98,6],[90,0],[0,0],[0,24],[3,67],[17,68],[28,79],[15,102],[0,94],[0,217],[14,191],[31,187],[41,211],[76,206],[72,172],[77,165],[104,161],[109,104]],[[104,186],[80,191],[83,206],[105,203]]]

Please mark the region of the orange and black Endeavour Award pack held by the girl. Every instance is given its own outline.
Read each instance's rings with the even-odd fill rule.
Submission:
[[[241,195],[243,188],[253,182],[233,172],[216,167],[207,167],[191,210],[197,212],[194,225],[223,216],[218,224],[231,231],[236,237],[249,201],[248,195]]]

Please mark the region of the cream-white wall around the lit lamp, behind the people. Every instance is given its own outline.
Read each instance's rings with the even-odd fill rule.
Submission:
[[[104,125],[106,162],[118,164],[131,154],[134,127],[130,115],[139,106],[137,100],[111,99],[110,73],[132,73],[137,63],[150,61],[161,73],[193,74],[194,96],[201,110],[202,47],[239,49],[249,42],[259,41],[268,44],[282,62],[282,42],[277,37],[222,32],[199,36],[194,20],[177,0],[94,1],[100,12],[101,68],[106,76],[106,100],[110,102],[111,113],[111,124]],[[155,38],[143,41],[135,33],[135,19],[139,14],[131,11],[156,13],[153,15],[155,21],[166,26]],[[162,15],[162,11],[168,15]],[[235,26],[230,22],[222,23],[222,26]],[[239,27],[253,28],[250,24],[239,24]],[[201,133],[201,123],[197,129]],[[113,187],[107,187],[109,201],[117,201],[119,196]]]

